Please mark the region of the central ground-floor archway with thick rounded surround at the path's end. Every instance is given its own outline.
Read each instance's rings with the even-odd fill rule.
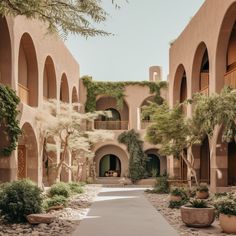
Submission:
[[[112,169],[119,170],[118,173],[121,177],[128,175],[128,156],[119,146],[108,144],[98,148],[95,152],[94,162],[97,176],[104,176],[104,171]]]

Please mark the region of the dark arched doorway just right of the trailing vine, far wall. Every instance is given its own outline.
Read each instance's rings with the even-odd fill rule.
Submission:
[[[160,159],[155,154],[147,154],[148,161],[146,165],[146,170],[148,177],[157,177],[160,175]]]

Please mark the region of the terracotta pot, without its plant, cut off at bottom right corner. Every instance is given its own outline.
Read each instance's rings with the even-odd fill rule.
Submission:
[[[227,234],[236,234],[236,216],[220,213],[220,227]]]

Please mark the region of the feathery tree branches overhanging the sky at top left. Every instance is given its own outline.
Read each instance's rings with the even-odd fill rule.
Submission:
[[[116,7],[115,0],[111,1]],[[48,25],[49,32],[80,34],[84,37],[110,35],[94,25],[105,22],[108,13],[100,0],[2,0],[0,15],[24,15],[29,19],[40,20]]]

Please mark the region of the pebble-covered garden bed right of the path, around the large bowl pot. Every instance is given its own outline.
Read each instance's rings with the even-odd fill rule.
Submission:
[[[151,194],[145,193],[146,198],[159,211],[166,220],[179,232],[182,236],[207,236],[207,235],[227,235],[222,233],[219,221],[216,219],[212,226],[207,228],[190,228],[186,227],[180,216],[180,209],[171,209],[169,205],[168,194]]]

